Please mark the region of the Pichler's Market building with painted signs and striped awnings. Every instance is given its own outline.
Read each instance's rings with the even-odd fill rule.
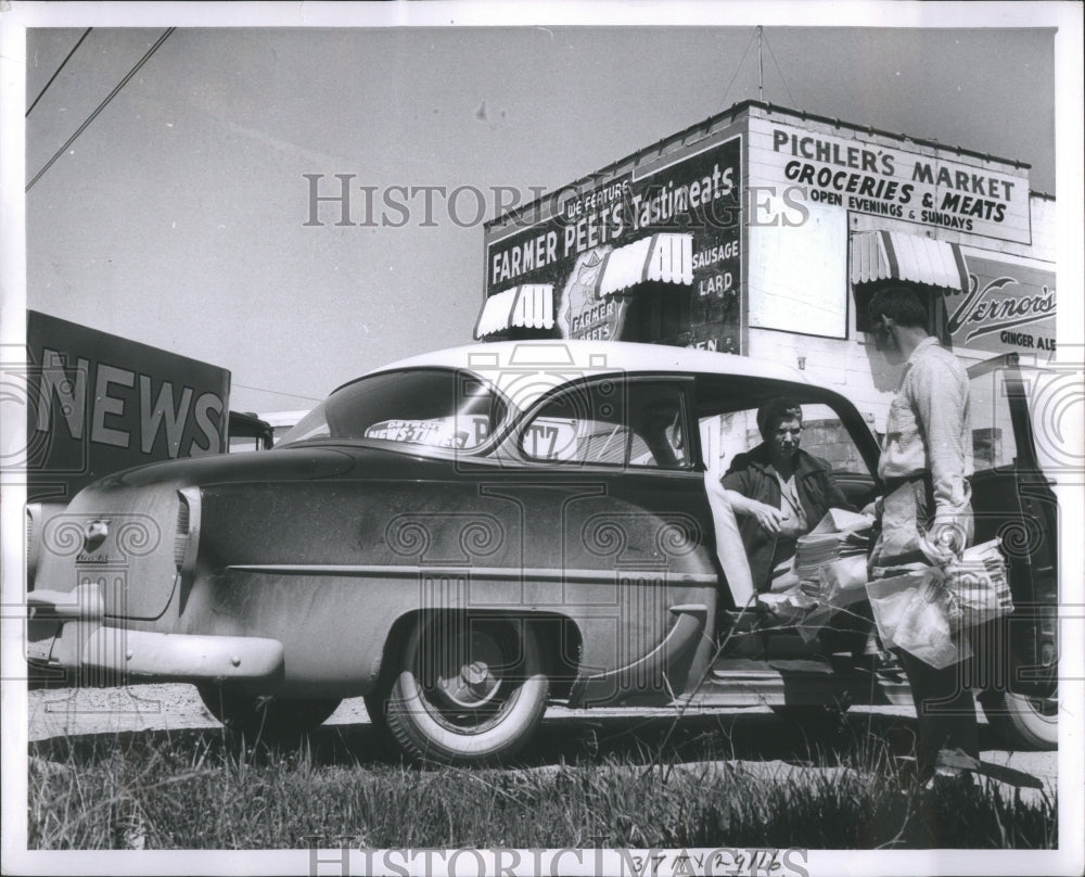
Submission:
[[[1055,355],[1055,200],[1029,165],[758,101],[486,226],[481,340],[701,347],[790,364],[880,430],[896,385],[867,333],[924,293],[966,364]]]

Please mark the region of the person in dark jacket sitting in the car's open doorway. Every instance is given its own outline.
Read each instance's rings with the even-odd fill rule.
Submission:
[[[856,509],[829,463],[800,449],[803,410],[797,403],[769,399],[757,409],[757,429],[764,441],[735,456],[722,484],[739,517],[754,587],[765,592],[797,581],[791,572],[797,539],[830,508]]]

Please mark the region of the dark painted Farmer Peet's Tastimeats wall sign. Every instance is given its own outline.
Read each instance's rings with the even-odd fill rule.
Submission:
[[[716,138],[591,189],[545,196],[541,220],[524,227],[513,219],[487,233],[487,294],[520,283],[550,283],[563,338],[622,339],[639,284],[600,294],[607,256],[654,234],[691,236],[692,283],[664,284],[663,306],[675,312],[661,321],[666,334],[661,330],[659,338],[635,340],[689,344],[711,334],[722,348],[738,352],[740,161],[739,137]]]

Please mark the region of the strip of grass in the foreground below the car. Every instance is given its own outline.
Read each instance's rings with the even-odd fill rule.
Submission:
[[[1057,800],[1007,797],[990,780],[924,791],[855,723],[832,746],[792,739],[788,758],[770,759],[830,771],[776,776],[717,761],[756,727],[690,724],[667,738],[660,722],[607,736],[580,723],[572,742],[551,729],[525,770],[406,766],[379,753],[368,726],[322,728],[288,751],[207,730],[52,740],[31,751],[29,846],[297,849],[311,836],[362,848],[1058,846]]]

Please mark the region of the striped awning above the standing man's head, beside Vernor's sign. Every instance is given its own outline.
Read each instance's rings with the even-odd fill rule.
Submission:
[[[906,280],[968,291],[960,247],[919,234],[861,231],[852,236],[852,283]]]

